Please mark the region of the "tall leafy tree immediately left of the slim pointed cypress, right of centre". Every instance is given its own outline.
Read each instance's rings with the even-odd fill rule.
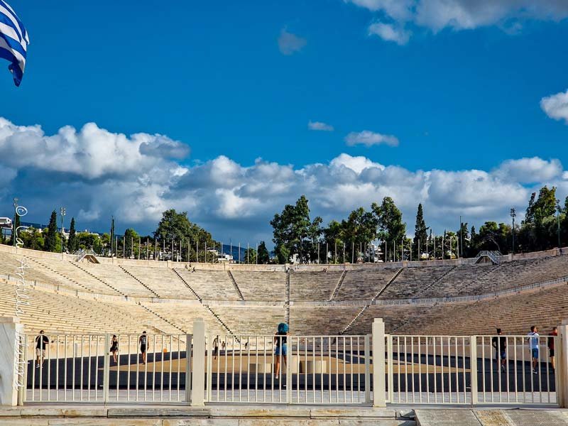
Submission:
[[[403,222],[402,212],[396,207],[393,199],[384,197],[381,205],[373,202],[371,207],[377,217],[379,238],[386,242],[389,248],[393,244],[400,248],[400,244],[402,244],[406,234],[406,224]],[[389,258],[395,261],[397,256],[400,256],[400,250],[396,249],[393,251],[390,249],[388,250],[388,255]]]

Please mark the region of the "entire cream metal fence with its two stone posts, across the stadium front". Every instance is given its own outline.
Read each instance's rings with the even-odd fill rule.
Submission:
[[[20,401],[563,406],[568,325],[559,329],[558,337],[390,335],[376,319],[364,336],[284,341],[205,334],[198,319],[194,334],[28,335]]]

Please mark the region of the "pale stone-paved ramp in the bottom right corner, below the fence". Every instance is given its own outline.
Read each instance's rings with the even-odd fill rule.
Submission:
[[[535,409],[420,409],[417,426],[562,426],[568,425],[566,410]]]

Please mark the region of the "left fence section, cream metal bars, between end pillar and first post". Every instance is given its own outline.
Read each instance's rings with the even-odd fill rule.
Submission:
[[[187,334],[28,335],[28,402],[182,402]],[[43,341],[43,342],[42,342]]]

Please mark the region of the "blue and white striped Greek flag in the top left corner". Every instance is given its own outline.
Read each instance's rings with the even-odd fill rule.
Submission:
[[[6,1],[0,0],[0,58],[11,62],[8,69],[16,86],[20,85],[26,67],[28,43],[28,32],[16,12]]]

